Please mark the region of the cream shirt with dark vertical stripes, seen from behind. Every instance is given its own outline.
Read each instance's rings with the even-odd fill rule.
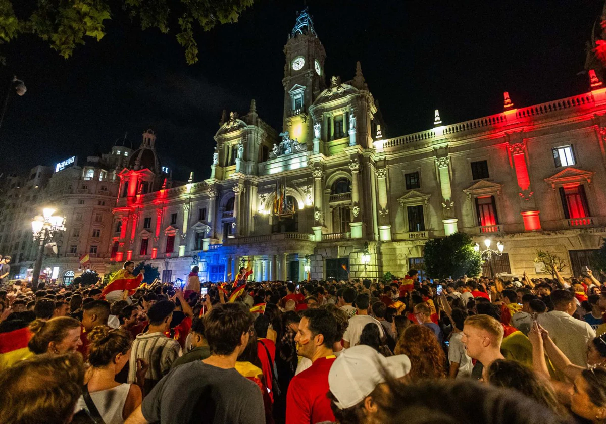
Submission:
[[[150,368],[145,374],[145,388],[153,388],[158,381],[170,371],[170,366],[178,357],[182,356],[181,345],[169,339],[159,331],[156,333],[139,334],[130,350],[130,365],[128,368],[128,382],[135,383],[137,359],[145,359]]]

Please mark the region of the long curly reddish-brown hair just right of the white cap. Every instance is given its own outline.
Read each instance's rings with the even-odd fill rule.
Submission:
[[[439,345],[436,334],[424,325],[410,325],[402,333],[396,347],[396,355],[406,355],[410,359],[411,380],[444,379],[446,377],[446,356]]]

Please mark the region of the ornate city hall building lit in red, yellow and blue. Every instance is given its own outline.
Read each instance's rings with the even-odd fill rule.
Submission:
[[[450,125],[436,110],[430,130],[384,138],[360,64],[350,81],[324,75],[307,12],[284,53],[281,130],[255,101],[224,114],[210,178],[171,187],[148,134],[119,173],[113,260],[147,260],[164,280],[192,263],[205,280],[230,279],[249,259],[255,280],[343,278],[342,265],[404,275],[426,240],[465,231],[505,244],[485,274],[533,276],[539,248],[578,274],[600,247],[606,89],[593,74],[579,96],[516,108],[505,93],[501,113]]]

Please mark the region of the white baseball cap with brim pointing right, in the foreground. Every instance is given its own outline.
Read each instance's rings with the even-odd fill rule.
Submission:
[[[396,379],[410,371],[406,355],[384,357],[370,346],[347,349],[333,362],[328,372],[328,385],[339,409],[358,405],[377,385],[385,382],[384,373]]]

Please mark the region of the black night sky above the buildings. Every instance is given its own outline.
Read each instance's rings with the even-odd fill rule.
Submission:
[[[18,2],[18,1],[17,1]],[[250,100],[280,130],[284,53],[303,1],[256,0],[239,22],[198,31],[199,59],[187,65],[174,37],[141,31],[122,16],[107,35],[63,59],[33,36],[0,45],[27,93],[9,99],[0,128],[0,173],[66,157],[107,153],[148,127],[162,159],[186,179],[210,176],[221,111],[245,114]],[[585,42],[603,0],[308,0],[327,52],[325,76],[353,78],[356,61],[379,100],[387,134],[432,127],[433,110],[453,124],[498,113],[503,91],[516,107],[588,91]],[[176,29],[176,28],[175,28]],[[6,82],[0,84],[4,99]],[[3,101],[3,100],[2,100]]]

